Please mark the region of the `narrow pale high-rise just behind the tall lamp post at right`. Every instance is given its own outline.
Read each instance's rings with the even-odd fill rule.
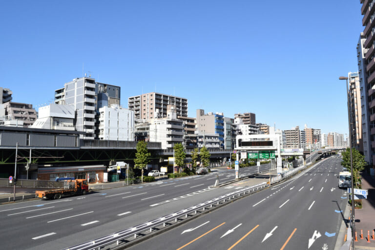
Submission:
[[[360,83],[358,72],[348,73],[349,93],[350,93],[350,115],[352,122],[352,140],[353,146],[360,152],[363,152],[362,141],[362,111],[361,111],[361,96],[360,96]]]

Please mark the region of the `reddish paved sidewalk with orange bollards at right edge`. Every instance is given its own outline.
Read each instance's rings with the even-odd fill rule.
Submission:
[[[373,230],[375,230],[375,178],[367,173],[362,173],[362,189],[368,189],[367,199],[362,199],[362,209],[355,209],[355,230],[357,232],[358,242],[354,242],[355,250],[375,250],[375,239],[373,239]],[[361,239],[361,229],[363,230],[363,239]],[[367,237],[367,231],[370,231],[370,243]]]

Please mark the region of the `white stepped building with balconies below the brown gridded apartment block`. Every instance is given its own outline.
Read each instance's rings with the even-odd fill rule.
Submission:
[[[161,142],[163,149],[184,141],[184,122],[177,119],[174,105],[167,105],[167,117],[150,120],[149,141]]]

